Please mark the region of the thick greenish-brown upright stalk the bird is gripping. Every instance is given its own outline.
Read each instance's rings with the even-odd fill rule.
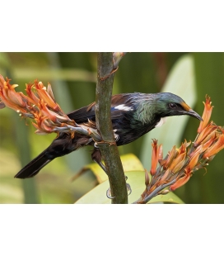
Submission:
[[[128,192],[124,170],[119,158],[117,145],[114,143],[114,132],[110,119],[110,100],[113,89],[114,73],[113,54],[98,53],[96,84],[96,126],[105,143],[98,144],[105,167],[109,174],[112,203],[128,203]],[[111,143],[111,144],[110,144]]]

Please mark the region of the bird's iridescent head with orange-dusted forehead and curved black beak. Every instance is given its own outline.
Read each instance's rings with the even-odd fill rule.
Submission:
[[[156,93],[156,110],[161,117],[188,115],[203,121],[197,112],[192,110],[184,100],[170,92]]]

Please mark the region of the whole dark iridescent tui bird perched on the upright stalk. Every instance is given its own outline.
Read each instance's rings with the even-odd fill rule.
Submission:
[[[72,111],[68,113],[68,117],[78,125],[88,123],[96,128],[95,105],[96,102],[93,102],[87,107]],[[148,131],[161,126],[166,116],[188,115],[203,121],[202,117],[181,97],[170,92],[117,94],[111,98],[110,110],[114,137],[118,146],[133,142]],[[60,133],[52,144],[22,168],[15,178],[31,178],[53,159],[86,145],[94,147],[91,158],[106,172],[105,166],[101,163],[100,150],[91,136],[76,133],[72,138],[70,134]]]

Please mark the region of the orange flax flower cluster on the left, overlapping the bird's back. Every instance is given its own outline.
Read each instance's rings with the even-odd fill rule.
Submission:
[[[26,95],[16,92],[17,84],[10,84],[11,79],[4,79],[0,74],[0,108],[9,107],[15,110],[23,118],[31,118],[35,133],[45,135],[52,132],[75,133],[90,135],[94,140],[102,140],[96,129],[88,123],[79,126],[71,120],[59,107],[54,99],[51,85],[44,87],[42,82],[26,84]]]

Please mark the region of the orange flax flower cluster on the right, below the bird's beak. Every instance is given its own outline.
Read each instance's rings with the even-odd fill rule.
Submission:
[[[224,149],[224,128],[209,122],[213,108],[211,98],[206,96],[203,104],[203,121],[193,143],[185,140],[179,149],[173,146],[165,159],[159,159],[157,140],[153,140],[152,168],[150,172],[145,171],[146,189],[134,203],[147,203],[152,197],[183,186],[199,168],[206,168],[214,156]],[[161,149],[161,145],[159,147]]]

